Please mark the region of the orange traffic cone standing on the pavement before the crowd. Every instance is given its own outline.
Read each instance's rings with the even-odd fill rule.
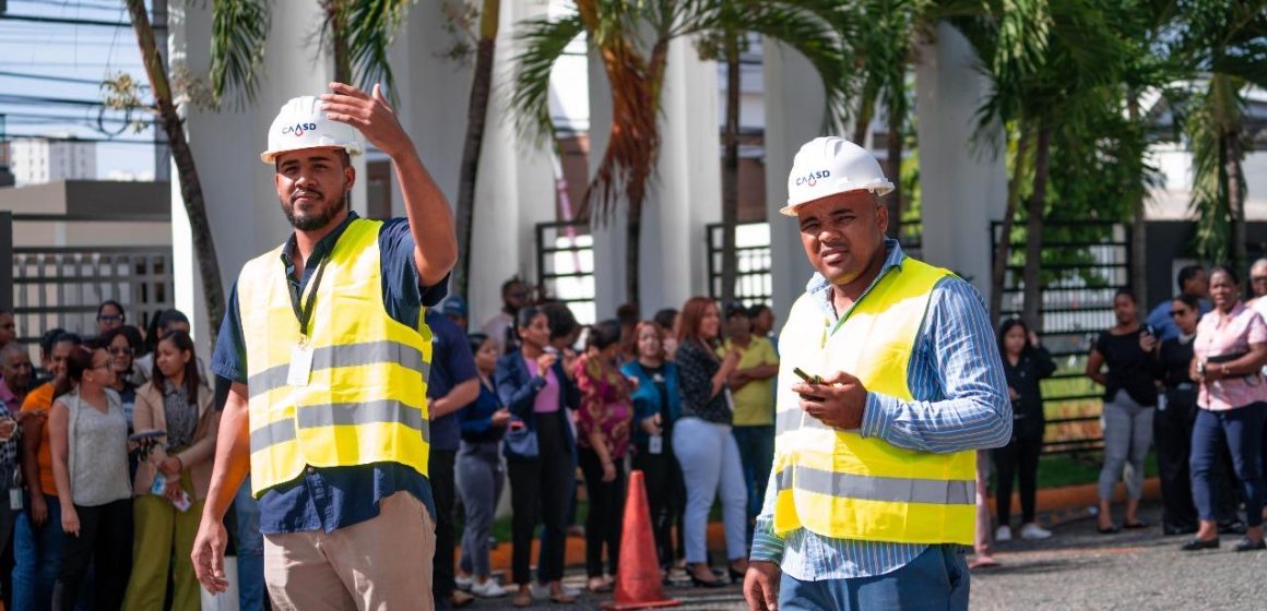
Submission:
[[[682,601],[664,597],[660,583],[660,562],[656,559],[651,534],[651,510],[646,503],[642,472],[630,473],[628,496],[625,497],[625,526],[621,531],[621,564],[616,572],[616,595],[603,608],[675,607]]]

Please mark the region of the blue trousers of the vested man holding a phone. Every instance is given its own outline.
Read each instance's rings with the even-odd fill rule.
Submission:
[[[783,573],[779,611],[968,608],[968,564],[960,545],[930,545],[910,564],[878,577],[803,582]]]

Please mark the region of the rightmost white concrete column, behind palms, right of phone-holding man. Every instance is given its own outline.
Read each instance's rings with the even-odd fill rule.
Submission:
[[[916,102],[920,142],[920,196],[924,258],[972,278],[990,295],[990,221],[1007,204],[1006,159],[974,147],[977,109],[988,82],[976,67],[968,40],[938,25],[936,42],[920,47]],[[997,139],[1002,143],[1000,128]]]

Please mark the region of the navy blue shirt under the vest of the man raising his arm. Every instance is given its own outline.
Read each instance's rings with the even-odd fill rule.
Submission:
[[[334,243],[356,218],[356,213],[348,214],[347,220],[322,238],[313,248],[309,261],[319,261],[334,248]],[[281,249],[281,263],[286,266],[290,282],[303,291],[317,266],[305,266],[303,278],[295,280],[294,249],[295,238],[291,234]],[[422,309],[445,299],[449,278],[432,287],[421,286],[413,250],[413,234],[409,233],[405,219],[392,219],[383,224],[379,230],[383,305],[394,320],[417,328]],[[242,339],[236,282],[212,355],[212,372],[233,382],[247,382],[246,342]],[[260,531],[267,535],[313,530],[333,533],[378,516],[379,501],[400,491],[416,496],[432,516],[436,515],[431,483],[412,467],[390,462],[357,467],[309,467],[303,476],[275,486],[260,497]]]

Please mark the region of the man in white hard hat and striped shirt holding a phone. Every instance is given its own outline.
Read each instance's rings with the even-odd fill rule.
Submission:
[[[968,608],[974,450],[1007,443],[1011,405],[981,295],[884,237],[892,188],[841,138],[788,177],[817,273],[779,334],[753,610]]]

